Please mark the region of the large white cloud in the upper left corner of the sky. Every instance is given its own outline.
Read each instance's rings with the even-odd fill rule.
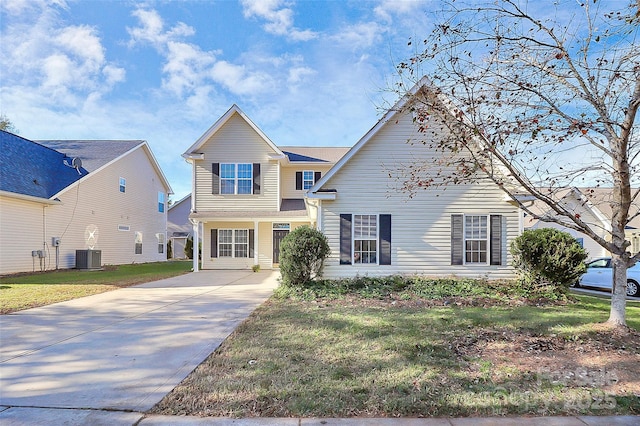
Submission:
[[[5,85],[29,86],[44,104],[72,105],[101,96],[124,81],[125,70],[105,57],[102,40],[88,25],[64,25],[60,1],[13,2],[2,29],[0,67]]]

